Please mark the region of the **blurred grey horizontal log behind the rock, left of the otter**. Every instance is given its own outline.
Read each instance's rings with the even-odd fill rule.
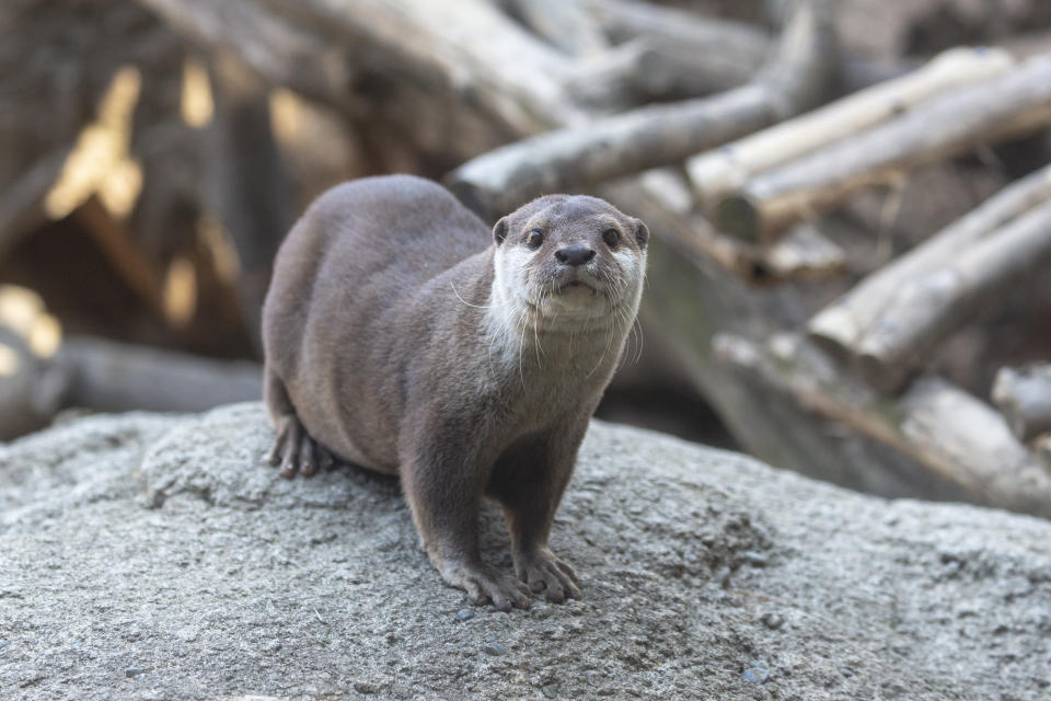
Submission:
[[[66,376],[63,406],[104,412],[199,412],[262,397],[262,370],[245,361],[100,338],[67,338],[55,363]]]

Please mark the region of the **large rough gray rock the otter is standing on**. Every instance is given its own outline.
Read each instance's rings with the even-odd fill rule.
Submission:
[[[0,446],[0,698],[1051,698],[1047,521],[596,423],[553,536],[584,598],[505,614],[395,481],[281,480],[269,438],[240,404]]]

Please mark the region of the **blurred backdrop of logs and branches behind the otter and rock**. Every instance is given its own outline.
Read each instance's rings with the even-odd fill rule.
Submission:
[[[0,36],[2,440],[257,399],[287,230],[408,172],[647,221],[600,417],[1051,515],[1051,3],[5,0]]]

